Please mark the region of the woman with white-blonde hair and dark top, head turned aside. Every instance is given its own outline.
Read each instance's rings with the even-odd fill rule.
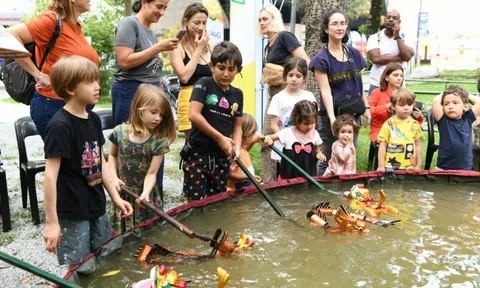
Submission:
[[[310,58],[308,58],[307,53],[305,53],[297,37],[288,31],[284,31],[282,14],[280,14],[280,11],[278,11],[274,5],[268,5],[260,10],[258,16],[258,31],[260,35],[268,38],[268,44],[265,48],[264,64],[272,63],[283,66],[285,60],[292,55],[305,59],[307,64],[310,63]],[[266,71],[264,71],[264,73],[266,73]],[[282,72],[280,71],[279,74],[281,75]],[[283,75],[280,76],[280,78],[283,78]],[[273,134],[270,127],[271,119],[270,116],[266,114],[266,111],[268,111],[272,97],[285,88],[283,83],[267,82],[267,84],[269,84],[269,87],[267,106],[263,118],[263,135]],[[262,166],[263,181],[265,183],[276,181],[277,163],[270,158],[270,149],[266,146],[262,146]]]

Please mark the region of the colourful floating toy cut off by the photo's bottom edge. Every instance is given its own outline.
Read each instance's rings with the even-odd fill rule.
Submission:
[[[133,288],[185,288],[187,281],[182,280],[175,270],[167,270],[165,265],[150,270],[150,278],[133,285]]]

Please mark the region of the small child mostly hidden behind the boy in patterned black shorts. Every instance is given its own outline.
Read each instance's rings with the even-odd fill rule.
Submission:
[[[253,147],[255,143],[261,142],[263,135],[255,133],[258,130],[257,121],[252,115],[243,113],[242,117],[242,147],[240,148],[240,156],[238,157],[240,161],[247,167],[248,171],[252,175],[255,175],[255,170],[253,169],[252,161],[250,160],[250,154],[248,151]],[[262,179],[255,175],[255,179],[260,182]],[[237,190],[246,186],[253,185],[252,181],[248,179],[248,176],[243,173],[242,169],[237,165],[232,165],[230,167],[230,173],[228,175],[228,184],[227,191]]]

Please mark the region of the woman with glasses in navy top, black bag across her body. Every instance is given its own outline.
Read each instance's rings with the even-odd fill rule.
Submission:
[[[363,114],[365,123],[370,123],[371,119],[361,75],[367,62],[357,49],[344,44],[348,41],[347,31],[345,13],[338,9],[328,10],[320,31],[320,40],[327,45],[315,55],[309,65],[315,73],[321,92],[318,128],[323,141],[321,150],[327,156],[327,160],[317,166],[317,175],[323,175],[332,154],[332,144],[336,140],[332,125],[339,113],[339,101],[347,95],[358,97],[366,107]],[[359,115],[354,116],[359,120]]]

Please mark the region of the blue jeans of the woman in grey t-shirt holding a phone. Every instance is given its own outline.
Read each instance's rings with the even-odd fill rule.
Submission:
[[[137,92],[138,86],[142,82],[137,81],[123,81],[123,82],[112,82],[112,112],[113,112],[113,122],[115,126],[120,125],[128,121],[130,116],[130,108],[132,106],[133,97],[135,92]],[[149,83],[155,86],[160,87],[160,82]],[[164,170],[165,158],[160,165],[157,173],[157,186],[160,189],[160,193],[163,198],[163,170]],[[163,200],[163,199],[162,199]]]

